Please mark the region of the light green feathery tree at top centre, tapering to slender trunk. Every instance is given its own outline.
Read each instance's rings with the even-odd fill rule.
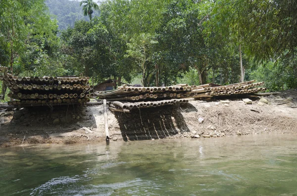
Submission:
[[[107,0],[101,4],[101,16],[127,46],[125,57],[134,59],[135,70],[142,73],[144,85],[152,78],[152,45],[156,43],[156,29],[162,21],[165,1],[160,0]]]

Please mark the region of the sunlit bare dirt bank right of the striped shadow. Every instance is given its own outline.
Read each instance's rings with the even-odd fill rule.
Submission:
[[[297,116],[290,117],[279,107],[279,113],[271,110],[271,105],[246,105],[241,101],[229,104],[193,103],[201,108],[199,113],[186,114],[185,120],[196,126],[200,134],[223,132],[225,135],[261,134],[261,133],[296,133]],[[201,107],[202,106],[202,107]],[[290,109],[290,108],[288,108]],[[293,109],[291,109],[293,110]],[[198,122],[197,115],[204,118]]]

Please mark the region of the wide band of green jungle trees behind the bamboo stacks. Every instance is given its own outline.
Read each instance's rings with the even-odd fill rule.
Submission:
[[[297,87],[296,52],[297,0],[0,0],[0,65],[14,75],[274,91]]]

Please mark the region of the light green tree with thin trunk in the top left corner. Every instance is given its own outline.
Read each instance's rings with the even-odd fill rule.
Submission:
[[[14,59],[24,52],[28,34],[50,34],[52,23],[44,0],[6,0],[3,7],[1,2],[0,34],[7,43],[10,72],[13,73]]]

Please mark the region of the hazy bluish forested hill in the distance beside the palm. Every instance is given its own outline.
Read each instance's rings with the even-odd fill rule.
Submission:
[[[79,6],[80,1],[46,0],[46,4],[49,6],[49,12],[56,15],[59,30],[67,29],[68,26],[73,27],[77,20],[90,20],[88,16],[84,16],[82,7]],[[98,11],[94,11],[93,15],[99,15]]]

